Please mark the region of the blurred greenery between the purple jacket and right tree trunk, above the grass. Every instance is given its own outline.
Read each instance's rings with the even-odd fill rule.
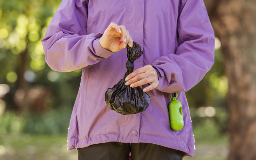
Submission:
[[[220,50],[215,50],[215,62],[211,70],[195,87],[186,92],[190,108],[191,119],[195,127],[205,125],[209,120],[219,125],[219,132],[227,132],[227,96],[228,79],[224,76]],[[213,117],[200,115],[204,107],[212,106],[215,109]],[[207,124],[206,124],[207,125]]]

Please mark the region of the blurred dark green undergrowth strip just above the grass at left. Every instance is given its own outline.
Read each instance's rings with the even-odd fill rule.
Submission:
[[[0,135],[6,134],[66,134],[71,109],[50,110],[45,114],[28,113],[21,116],[6,111],[0,116]]]

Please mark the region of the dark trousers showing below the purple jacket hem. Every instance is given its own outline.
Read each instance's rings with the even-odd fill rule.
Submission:
[[[182,160],[183,152],[151,143],[108,142],[78,149],[78,160]]]

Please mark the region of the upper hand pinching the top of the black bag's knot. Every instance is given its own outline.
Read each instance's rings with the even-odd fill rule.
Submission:
[[[121,38],[123,41],[121,41]],[[127,44],[130,47],[133,44],[129,31],[124,26],[118,26],[114,22],[110,23],[100,38],[100,45],[111,52],[117,52],[125,48]]]

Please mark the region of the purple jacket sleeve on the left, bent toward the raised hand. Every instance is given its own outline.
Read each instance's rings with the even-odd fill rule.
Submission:
[[[94,33],[86,35],[86,0],[63,0],[42,40],[50,68],[69,72],[93,65],[113,52],[102,48]]]

